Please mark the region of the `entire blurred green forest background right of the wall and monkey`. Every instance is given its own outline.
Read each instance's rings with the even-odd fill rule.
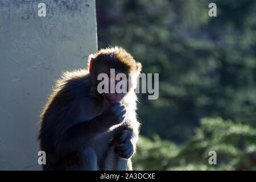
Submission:
[[[255,170],[256,1],[97,0],[96,9],[98,47],[122,46],[143,73],[159,73],[158,100],[138,94],[134,168]]]

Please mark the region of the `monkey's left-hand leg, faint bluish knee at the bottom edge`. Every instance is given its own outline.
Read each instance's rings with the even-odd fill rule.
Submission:
[[[97,164],[97,155],[94,149],[91,146],[86,146],[81,151],[82,156],[82,169],[86,171],[97,171],[98,164]]]

